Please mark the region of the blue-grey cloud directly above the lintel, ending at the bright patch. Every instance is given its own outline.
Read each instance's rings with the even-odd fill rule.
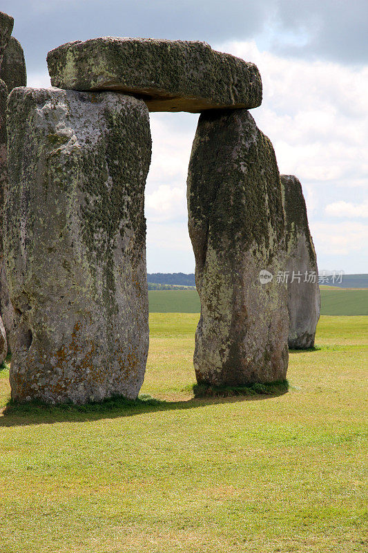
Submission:
[[[262,30],[264,8],[248,0],[3,0],[14,17],[29,71],[38,71],[51,48],[98,36],[222,41]]]

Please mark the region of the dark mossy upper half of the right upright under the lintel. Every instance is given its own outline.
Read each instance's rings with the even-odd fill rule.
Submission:
[[[202,155],[206,144],[211,144],[208,157]],[[203,223],[206,232],[211,229],[214,247],[226,238],[244,248],[257,244],[271,253],[271,231],[273,239],[282,243],[275,153],[245,110],[216,110],[200,116],[188,176],[188,209],[194,225]]]

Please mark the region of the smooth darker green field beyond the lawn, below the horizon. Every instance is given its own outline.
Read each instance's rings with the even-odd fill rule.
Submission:
[[[148,292],[152,313],[199,313],[197,290],[151,290]],[[321,315],[368,315],[368,290],[321,288]]]

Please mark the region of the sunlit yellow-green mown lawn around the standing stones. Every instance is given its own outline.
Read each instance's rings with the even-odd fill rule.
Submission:
[[[0,552],[366,552],[367,317],[322,317],[288,393],[205,399],[198,315],[150,319],[160,401],[0,415]]]

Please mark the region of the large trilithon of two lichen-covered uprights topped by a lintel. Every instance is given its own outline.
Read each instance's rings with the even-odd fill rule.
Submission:
[[[0,17],[1,55],[10,19]],[[0,76],[12,88],[12,68],[25,71],[19,44],[9,44]],[[48,68],[52,88],[16,88],[8,100],[12,398],[84,403],[139,393],[148,111],[201,113],[188,171],[198,382],[284,379],[287,288],[260,274],[286,268],[288,231],[272,144],[247,111],[262,101],[255,65],[202,42],[101,37],[55,48]]]

